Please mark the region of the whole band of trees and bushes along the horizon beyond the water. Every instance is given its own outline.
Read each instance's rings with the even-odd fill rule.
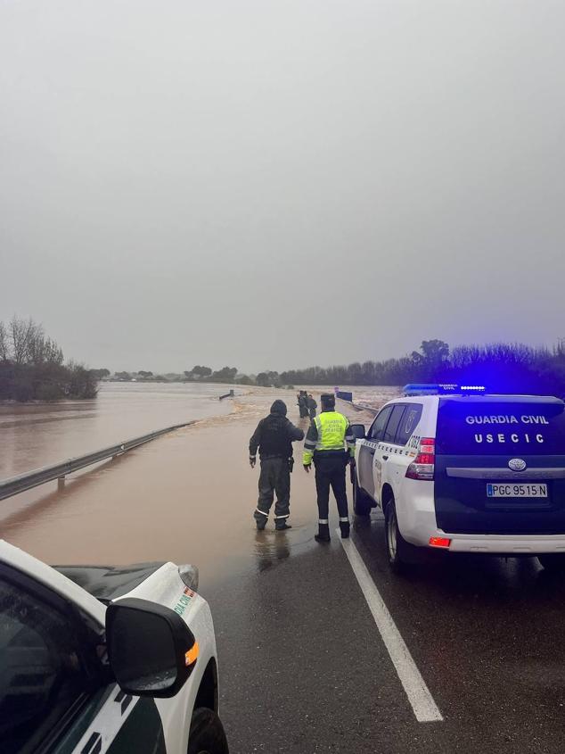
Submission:
[[[228,385],[405,385],[439,382],[484,385],[492,393],[565,396],[565,341],[552,349],[524,344],[458,345],[422,341],[399,359],[354,362],[245,375],[235,367],[214,370],[196,365],[183,374],[86,369],[64,363],[59,345],[33,319],[0,321],[0,400],[18,402],[92,399],[99,380],[119,382],[202,382]]]

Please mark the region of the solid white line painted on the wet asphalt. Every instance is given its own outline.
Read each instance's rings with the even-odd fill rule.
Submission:
[[[339,534],[340,530],[338,529],[337,532]],[[405,640],[400,635],[389,609],[385,605],[381,593],[371,578],[355,544],[351,539],[341,539],[340,542],[348,556],[349,564],[353,568],[361,591],[364,593],[364,599],[373,613],[374,622],[381,632],[382,641],[389,650],[390,659],[397,670],[398,678],[400,678],[400,683],[404,687],[408,701],[412,705],[416,720],[419,723],[433,723],[443,720],[438,705],[433,700],[430,689],[420,675],[410,650],[408,650]]]

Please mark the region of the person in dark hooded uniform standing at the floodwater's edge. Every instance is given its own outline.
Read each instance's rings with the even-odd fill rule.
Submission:
[[[274,493],[274,528],[277,531],[291,528],[286,519],[291,515],[292,443],[302,439],[304,432],[286,418],[286,404],[282,401],[273,403],[271,413],[261,419],[250,439],[251,468],[257,462],[257,450],[261,460],[259,499],[253,514],[259,531],[266,526]]]

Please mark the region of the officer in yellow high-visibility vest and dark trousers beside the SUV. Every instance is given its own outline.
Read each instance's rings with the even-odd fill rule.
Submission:
[[[330,487],[338,503],[341,537],[349,536],[348,496],[345,490],[345,470],[355,464],[355,436],[348,418],[335,410],[335,396],[320,396],[322,412],[312,419],[304,442],[302,465],[310,471],[315,466],[315,489],[318,495],[318,534],[316,542],[330,542],[328,524]],[[347,445],[347,450],[345,448]]]

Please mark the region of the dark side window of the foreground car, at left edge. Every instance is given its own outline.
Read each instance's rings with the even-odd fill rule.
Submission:
[[[86,672],[70,617],[2,574],[0,658],[3,754],[33,750],[86,691]]]

